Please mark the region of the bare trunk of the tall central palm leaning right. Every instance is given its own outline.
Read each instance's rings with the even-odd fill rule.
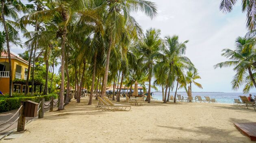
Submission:
[[[102,89],[101,97],[105,97],[105,95],[106,95],[106,84],[107,84],[107,80],[108,80],[108,67],[109,67],[111,47],[112,47],[112,38],[110,38],[110,40],[109,40],[108,53],[107,53],[107,57],[106,57],[106,68],[105,68],[103,89]]]

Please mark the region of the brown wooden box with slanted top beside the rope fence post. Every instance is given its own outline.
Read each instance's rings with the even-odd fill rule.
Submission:
[[[36,117],[37,116],[37,110],[38,110],[38,104],[34,101],[26,101],[25,107],[24,107],[24,116],[25,117]]]

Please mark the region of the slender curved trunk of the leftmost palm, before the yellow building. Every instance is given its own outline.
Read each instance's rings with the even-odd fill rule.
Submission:
[[[2,23],[4,25],[4,32],[5,32],[5,38],[6,38],[6,45],[7,45],[7,52],[8,52],[8,62],[9,62],[9,97],[12,97],[12,90],[13,90],[13,76],[12,76],[12,68],[11,68],[11,50],[9,45],[9,33],[7,29],[7,25],[5,23],[4,18],[4,0],[1,1],[1,12],[2,12]]]

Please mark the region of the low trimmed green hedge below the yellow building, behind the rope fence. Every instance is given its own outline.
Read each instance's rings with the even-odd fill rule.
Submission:
[[[18,109],[20,107],[20,101],[31,100],[39,103],[40,98],[44,98],[45,101],[49,101],[50,97],[53,96],[54,99],[58,98],[58,95],[43,95],[43,96],[35,96],[35,97],[13,97],[13,98],[4,98],[0,100],[0,113],[11,111],[13,109]]]

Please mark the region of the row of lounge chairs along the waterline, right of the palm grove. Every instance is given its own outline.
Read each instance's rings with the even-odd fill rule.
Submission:
[[[208,97],[208,96],[205,96],[204,97],[205,99],[202,99],[202,97],[201,96],[195,96],[195,99],[193,99],[193,97],[192,96],[189,96],[189,97],[187,97],[186,99],[184,99],[184,97],[183,96],[181,96],[181,95],[177,95],[177,101],[178,102],[204,102],[204,103],[218,103],[214,98],[212,98],[212,99],[210,99],[210,97]],[[174,101],[174,96],[173,95],[171,95],[170,96],[170,101]]]

